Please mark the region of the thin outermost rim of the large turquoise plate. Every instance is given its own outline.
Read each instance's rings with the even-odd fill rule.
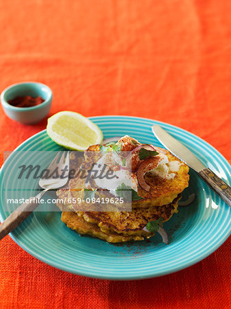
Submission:
[[[228,165],[228,172],[230,174],[230,179],[231,179],[231,165],[230,163],[228,162],[228,160],[223,157],[223,155],[221,154],[221,152],[219,152],[214,146],[212,146],[211,144],[209,144],[207,141],[205,141],[204,139],[202,139],[201,137],[198,137],[197,135],[195,135],[194,133],[191,133],[190,131],[188,130],[185,130],[184,128],[180,128],[178,126],[175,126],[173,124],[169,124],[167,122],[161,122],[159,120],[156,120],[156,119],[151,119],[151,118],[146,118],[146,117],[137,117],[137,116],[127,116],[127,115],[99,115],[99,116],[91,116],[91,117],[88,117],[89,119],[92,119],[94,120],[95,118],[110,118],[110,117],[119,117],[119,118],[131,118],[131,119],[143,119],[143,120],[148,120],[148,121],[151,121],[151,122],[156,122],[158,124],[164,124],[164,125],[167,125],[167,126],[171,126],[173,128],[176,128],[177,130],[180,130],[184,133],[187,133],[187,134],[190,134],[190,135],[193,135],[194,137],[196,137],[197,139],[201,140],[203,143],[207,144],[208,146],[210,146],[215,152],[217,152],[217,154],[219,154],[219,156],[222,158],[222,161],[224,161],[226,163],[226,165]],[[27,139],[25,139],[25,141],[23,141],[19,146],[17,146],[13,151],[12,153],[10,154],[10,156],[3,162],[3,165],[1,166],[1,169],[0,169],[0,174],[3,172],[3,168],[4,168],[4,165],[5,163],[10,159],[10,157],[12,156],[13,152],[18,150],[19,147],[23,146],[24,144],[26,144],[30,139],[34,139],[34,137],[38,136],[38,135],[42,135],[42,133],[45,133],[47,131],[47,129],[43,129],[43,130],[40,130],[38,133],[35,133],[34,135],[32,135],[31,137],[28,137]],[[6,151],[6,150],[4,150]],[[230,184],[230,179],[228,179],[228,184]],[[3,222],[3,217],[1,215],[1,212],[0,212],[0,221]],[[27,246],[25,244],[22,244],[20,240],[18,240],[16,237],[14,237],[12,235],[12,233],[10,233],[10,237],[12,238],[12,240],[14,240],[14,242],[16,242],[16,244],[19,245],[19,247],[21,247],[23,250],[25,250],[27,253],[29,253],[30,255],[32,255],[34,258],[37,258],[38,260],[42,261],[42,262],[45,262],[46,264],[48,264],[49,266],[53,266],[54,268],[58,268],[62,271],[66,271],[66,272],[69,272],[69,273],[73,273],[75,275],[82,275],[82,276],[85,276],[85,277],[91,277],[91,278],[97,278],[97,279],[108,279],[108,280],[134,280],[134,279],[149,279],[149,278],[152,278],[152,277],[161,277],[162,275],[168,275],[168,274],[171,274],[171,273],[175,273],[175,272],[178,272],[178,271],[181,271],[185,268],[188,268],[190,266],[193,266],[195,264],[197,264],[198,262],[201,262],[202,260],[204,260],[205,258],[207,258],[210,254],[212,254],[213,252],[215,252],[227,239],[228,237],[230,236],[231,234],[231,227],[230,229],[227,231],[227,233],[219,240],[219,242],[216,242],[216,244],[211,248],[209,249],[208,251],[206,251],[206,253],[204,253],[203,255],[199,255],[197,258],[195,258],[194,260],[192,261],[189,261],[187,262],[186,264],[184,265],[180,265],[180,266],[176,266],[173,270],[169,271],[169,270],[166,270],[166,271],[162,271],[160,273],[152,273],[152,274],[149,274],[149,275],[125,275],[125,276],[121,276],[120,277],[114,277],[114,275],[106,275],[106,274],[100,274],[100,275],[91,275],[90,274],[90,271],[86,271],[86,269],[84,271],[81,271],[81,270],[78,270],[78,271],[75,271],[71,268],[69,268],[68,266],[60,266],[60,265],[56,265],[55,263],[53,262],[49,262],[49,260],[47,260],[46,258],[43,258],[42,256],[40,256],[39,254],[37,253],[34,253],[31,249],[27,248]]]

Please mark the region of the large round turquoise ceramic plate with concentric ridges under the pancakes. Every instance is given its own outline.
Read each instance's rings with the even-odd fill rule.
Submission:
[[[211,170],[231,183],[231,168],[222,155],[206,141],[175,126],[138,117],[105,116],[90,119],[101,128],[104,137],[131,135],[143,143],[161,146],[151,133],[153,124],[160,124],[179,139]],[[58,150],[46,130],[27,139],[17,150]],[[1,169],[12,169],[14,154]],[[13,177],[14,175],[10,176]],[[183,199],[196,194],[194,203],[179,207],[180,211],[165,224],[170,244],[156,235],[151,240],[127,244],[108,244],[102,240],[81,237],[60,221],[60,212],[35,212],[10,236],[25,251],[43,262],[78,275],[104,279],[143,279],[179,271],[199,262],[215,251],[231,232],[231,209],[190,171],[189,188]],[[14,179],[12,178],[12,181]],[[23,197],[15,192],[14,198]],[[25,195],[25,193],[24,193]],[[32,196],[29,192],[28,196]],[[25,197],[25,196],[24,196]],[[1,181],[1,221],[5,212]]]

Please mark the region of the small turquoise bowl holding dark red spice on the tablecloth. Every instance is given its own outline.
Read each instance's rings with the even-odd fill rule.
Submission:
[[[32,107],[16,107],[8,103],[9,100],[17,96],[30,95],[33,98],[42,97],[44,102]],[[52,101],[52,91],[45,84],[40,82],[20,82],[12,84],[1,93],[1,105],[5,114],[21,124],[36,124],[45,118],[50,109]]]

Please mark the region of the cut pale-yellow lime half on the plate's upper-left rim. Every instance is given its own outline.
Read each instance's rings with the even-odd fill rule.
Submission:
[[[103,140],[103,133],[96,124],[72,111],[62,111],[49,117],[47,134],[57,144],[72,150],[86,150]]]

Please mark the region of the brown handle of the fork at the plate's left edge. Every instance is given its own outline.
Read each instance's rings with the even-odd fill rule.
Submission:
[[[34,200],[36,199],[36,200]],[[17,209],[15,209],[5,221],[0,225],[0,240],[7,236],[8,233],[16,229],[21,222],[23,222],[30,214],[36,209],[39,205],[38,198],[30,197],[28,198],[30,203],[24,203],[20,205]]]

